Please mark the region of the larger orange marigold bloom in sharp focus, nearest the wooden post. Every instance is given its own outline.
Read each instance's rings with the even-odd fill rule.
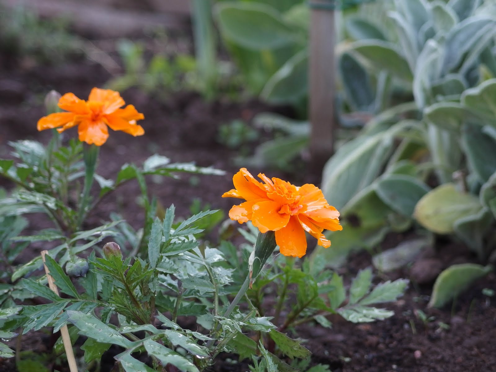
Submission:
[[[260,173],[263,184],[253,178],[246,168],[233,177],[234,187],[222,197],[245,199],[229,211],[229,217],[239,223],[251,221],[261,233],[275,231],[276,243],[285,256],[302,257],[307,251],[305,231],[328,248],[331,242],[322,231],[342,230],[339,212],[329,205],[322,191],[314,185],[294,186],[278,178],[269,179]]]

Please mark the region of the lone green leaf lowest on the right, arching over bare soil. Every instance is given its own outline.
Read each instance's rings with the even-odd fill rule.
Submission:
[[[442,308],[448,301],[465,291],[474,281],[486,276],[493,270],[492,266],[475,263],[452,265],[437,277],[429,307]]]

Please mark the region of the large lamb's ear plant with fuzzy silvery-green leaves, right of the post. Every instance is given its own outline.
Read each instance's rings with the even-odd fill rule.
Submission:
[[[341,251],[317,248],[315,259],[324,254],[336,263],[335,255],[344,259],[350,251],[374,248],[387,232],[418,223],[430,233],[451,235],[487,262],[496,222],[495,11],[488,1],[395,1],[388,16],[399,44],[373,20],[348,25],[351,35],[362,38],[348,53],[377,79],[387,73],[414,102],[380,113],[329,159],[322,190],[341,209],[350,236],[337,234]],[[432,237],[420,239],[423,246],[433,244]],[[444,300],[432,306],[456,295],[443,290],[453,288],[443,284],[450,277],[439,277],[444,280],[434,286],[434,297]],[[466,283],[474,278],[463,277]]]

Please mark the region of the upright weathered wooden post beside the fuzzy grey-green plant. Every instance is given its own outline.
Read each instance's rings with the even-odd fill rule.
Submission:
[[[313,167],[321,169],[333,153],[334,45],[332,0],[310,2],[310,153]]]

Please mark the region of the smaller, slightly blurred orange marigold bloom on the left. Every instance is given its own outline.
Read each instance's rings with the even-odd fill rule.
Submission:
[[[57,128],[59,133],[78,125],[79,140],[101,146],[109,137],[110,126],[133,136],[143,135],[137,120],[144,119],[133,105],[127,105],[119,92],[110,89],[93,88],[88,101],[77,98],[73,93],[65,93],[59,100],[59,107],[67,112],[50,114],[38,121],[38,130]]]

